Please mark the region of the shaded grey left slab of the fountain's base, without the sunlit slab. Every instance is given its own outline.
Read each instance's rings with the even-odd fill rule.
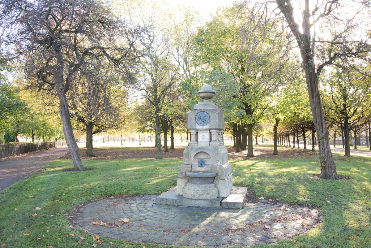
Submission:
[[[156,197],[157,204],[167,204],[167,205],[178,205],[178,206],[200,206],[200,207],[210,207],[219,208],[220,202],[223,198],[216,198],[211,200],[195,200],[188,199],[181,195],[175,194],[176,187],[168,190],[165,193]]]

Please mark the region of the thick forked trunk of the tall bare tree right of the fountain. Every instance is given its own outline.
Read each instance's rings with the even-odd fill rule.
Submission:
[[[287,1],[277,0],[280,11],[286,17],[286,21],[293,35],[298,43],[302,65],[305,71],[306,84],[308,87],[309,103],[311,106],[313,122],[316,128],[318,138],[318,150],[319,150],[319,163],[321,166],[320,178],[323,179],[339,179],[336,173],[336,164],[332,157],[330,144],[328,140],[328,130],[326,127],[326,121],[324,111],[322,108],[322,101],[319,94],[318,88],[318,75],[316,74],[315,61],[313,58],[313,47],[312,47],[312,35],[310,25],[310,10],[309,0],[305,0],[305,10],[303,13],[303,32],[298,28],[295,23],[295,17],[292,6],[287,4]]]

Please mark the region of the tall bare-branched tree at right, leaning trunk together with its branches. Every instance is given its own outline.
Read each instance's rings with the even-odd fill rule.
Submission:
[[[319,160],[321,164],[321,174],[319,177],[324,179],[339,179],[329,145],[328,130],[319,94],[318,80],[322,69],[326,65],[336,65],[336,61],[339,58],[362,58],[363,54],[370,50],[370,45],[367,43],[367,40],[347,39],[347,37],[352,37],[351,33],[354,32],[357,25],[354,18],[342,20],[341,13],[336,12],[340,9],[341,1],[315,1],[310,4],[309,0],[304,0],[303,9],[299,9],[301,12],[300,15],[294,13],[292,2],[291,0],[276,0],[280,13],[298,43],[302,58],[313,121],[318,137]],[[301,27],[297,19],[298,16],[303,17]],[[315,36],[313,34],[313,32],[319,31],[316,30],[316,25],[321,24],[319,23],[320,20],[324,20],[322,23],[325,26],[323,27],[324,30],[328,31],[329,28],[335,27],[331,32],[330,39],[321,39],[321,36]],[[343,28],[343,30],[339,30],[338,27]],[[320,64],[317,64],[315,61],[315,51],[318,51],[318,48],[322,49],[322,54],[319,55],[319,58],[323,60]]]

